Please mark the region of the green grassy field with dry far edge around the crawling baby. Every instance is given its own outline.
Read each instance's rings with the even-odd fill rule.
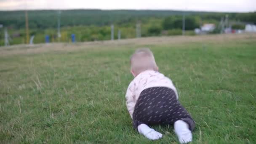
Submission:
[[[194,144],[256,143],[256,34],[0,47],[0,143],[176,144],[133,130],[125,106],[136,48],[155,53],[196,122]]]

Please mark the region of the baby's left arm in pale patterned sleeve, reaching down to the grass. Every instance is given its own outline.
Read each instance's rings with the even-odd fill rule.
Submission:
[[[129,114],[131,115],[131,118],[133,118],[133,111],[134,111],[134,107],[135,107],[135,101],[134,101],[134,86],[133,86],[133,82],[130,83],[130,85],[127,88],[126,91],[126,107],[128,109]]]

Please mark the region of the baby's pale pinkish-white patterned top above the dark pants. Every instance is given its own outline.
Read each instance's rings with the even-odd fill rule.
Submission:
[[[126,106],[129,114],[131,115],[131,118],[133,117],[134,107],[137,100],[139,99],[140,93],[144,89],[152,87],[171,88],[176,93],[176,97],[178,99],[177,90],[168,77],[165,77],[160,72],[156,72],[153,70],[146,70],[144,72],[141,72],[133,79],[133,81],[131,81],[125,95]]]

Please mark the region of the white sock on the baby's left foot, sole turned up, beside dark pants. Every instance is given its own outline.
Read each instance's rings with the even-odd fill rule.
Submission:
[[[149,126],[145,125],[145,124],[140,124],[138,126],[138,131],[139,133],[141,133],[142,135],[146,136],[148,139],[151,140],[157,140],[162,138],[162,134],[155,131],[153,128],[149,128]]]

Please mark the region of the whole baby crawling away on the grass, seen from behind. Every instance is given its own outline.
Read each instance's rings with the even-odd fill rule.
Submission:
[[[148,139],[156,140],[163,135],[148,125],[174,125],[180,143],[192,141],[195,122],[179,103],[172,81],[158,72],[153,53],[147,48],[138,49],[130,63],[135,78],[128,86],[125,98],[133,128]]]

